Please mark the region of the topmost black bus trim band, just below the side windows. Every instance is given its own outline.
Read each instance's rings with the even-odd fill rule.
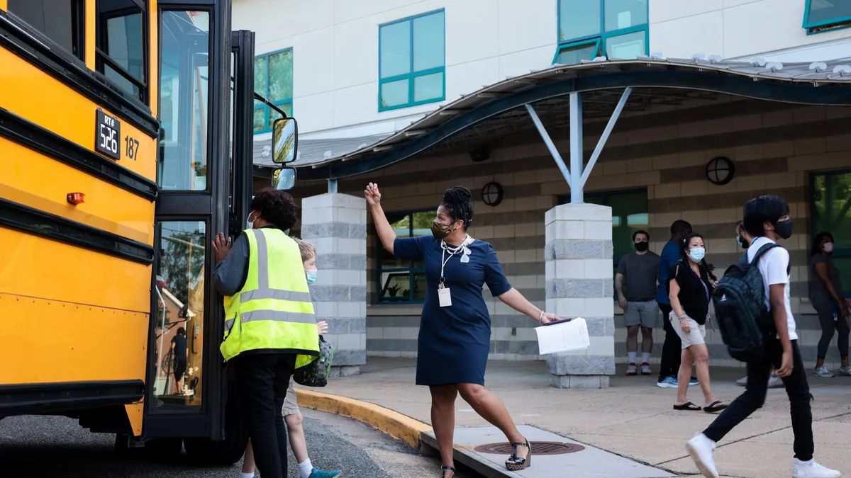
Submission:
[[[124,94],[106,77],[89,70],[84,64],[81,65],[82,62],[77,57],[66,53],[64,48],[56,45],[41,32],[33,31],[2,10],[0,46],[36,65],[38,69],[139,128],[151,138],[159,138],[160,122],[153,117],[147,105]]]

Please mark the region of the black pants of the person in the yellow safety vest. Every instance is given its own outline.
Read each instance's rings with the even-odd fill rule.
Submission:
[[[233,360],[257,469],[264,478],[286,478],[287,429],[281,409],[295,371],[295,355],[257,353]]]

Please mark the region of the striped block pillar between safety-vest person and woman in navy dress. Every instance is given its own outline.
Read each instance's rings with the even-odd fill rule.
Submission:
[[[323,194],[301,202],[301,238],[317,248],[311,286],[317,321],[328,322],[332,376],[360,373],[367,361],[367,203]]]

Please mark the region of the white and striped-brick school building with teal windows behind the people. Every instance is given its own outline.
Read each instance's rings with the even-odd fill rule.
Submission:
[[[815,233],[836,237],[851,294],[843,9],[808,0],[235,1],[235,29],[257,31],[257,51],[270,52],[255,62],[255,84],[285,83],[279,104],[299,121],[294,234],[319,249],[313,294],[340,372],[357,373],[368,356],[415,356],[426,293],[421,265],[380,249],[368,182],[380,185],[399,236],[428,233],[446,188],[473,191],[471,236],[493,245],[528,299],[585,317],[591,334],[582,353],[541,357],[535,322],[485,291],[491,358],[546,360],[542,373],[564,387],[607,386],[626,360],[612,278],[634,230],[648,230],[660,253],[671,222],[688,220],[720,274],[740,257],[734,222],[745,201],[783,196],[795,221],[784,243],[791,304],[811,365]],[[273,118],[255,112],[257,189],[273,171]],[[654,339],[658,361],[661,328]],[[712,364],[739,366],[717,332],[706,340]],[[838,361],[831,345],[827,365]]]

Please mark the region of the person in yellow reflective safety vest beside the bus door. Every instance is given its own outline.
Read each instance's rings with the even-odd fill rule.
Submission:
[[[316,316],[296,242],[293,197],[266,190],[251,200],[236,241],[216,236],[214,287],[225,297],[220,350],[235,365],[237,389],[264,478],[287,476],[287,430],[281,407],[289,378],[319,355]]]

